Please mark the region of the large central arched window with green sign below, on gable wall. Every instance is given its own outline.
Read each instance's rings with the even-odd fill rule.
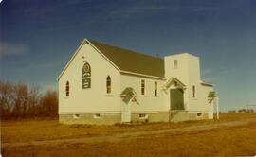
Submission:
[[[85,62],[82,67],[82,89],[91,88],[91,66]]]

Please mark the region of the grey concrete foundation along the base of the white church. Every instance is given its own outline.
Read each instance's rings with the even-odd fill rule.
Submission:
[[[187,120],[209,119],[208,113],[188,113],[187,111],[178,111],[174,115],[169,112],[159,113],[132,113],[133,123],[140,122],[181,122]],[[81,114],[59,114],[60,123],[64,124],[97,124],[113,125],[121,123],[121,113],[81,113]]]

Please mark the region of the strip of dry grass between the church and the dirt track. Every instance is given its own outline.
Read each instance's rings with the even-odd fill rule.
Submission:
[[[231,120],[256,118],[256,114],[221,114],[221,120],[187,121],[182,123],[148,123],[142,125],[63,125],[56,120],[25,120],[2,122],[2,142],[29,142],[60,138],[107,135],[115,132],[150,131],[192,125],[220,123]]]

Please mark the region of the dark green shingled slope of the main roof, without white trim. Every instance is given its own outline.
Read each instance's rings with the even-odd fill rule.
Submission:
[[[117,46],[89,42],[95,45],[103,55],[119,67],[120,70],[164,78],[164,60]]]

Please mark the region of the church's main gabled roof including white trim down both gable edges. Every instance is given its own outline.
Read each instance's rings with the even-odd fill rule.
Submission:
[[[107,61],[110,61],[120,73],[165,79],[163,59],[84,39],[72,58],[65,65],[62,73],[57,78],[58,81],[63,76],[64,71],[71,61],[74,60],[83,44],[92,45]]]

